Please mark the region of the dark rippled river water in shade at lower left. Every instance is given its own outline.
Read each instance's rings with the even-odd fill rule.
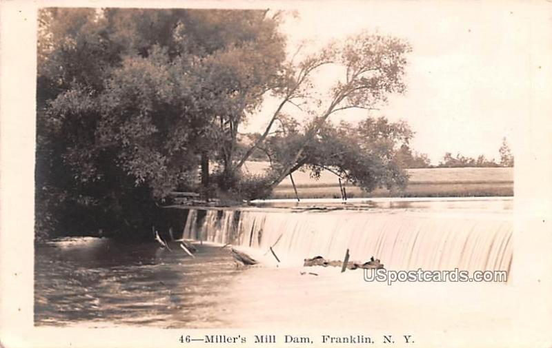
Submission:
[[[193,259],[155,243],[60,238],[35,254],[35,325],[221,327],[223,291],[239,272],[226,249],[208,245]]]

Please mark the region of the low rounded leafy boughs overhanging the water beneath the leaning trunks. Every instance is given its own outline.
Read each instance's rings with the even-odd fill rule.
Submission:
[[[326,124],[304,147],[300,161],[291,172],[310,170],[313,178],[319,178],[322,170],[329,170],[368,192],[377,187],[405,187],[407,175],[397,162],[396,153],[412,135],[406,123],[390,123],[384,117],[367,118],[358,125]],[[304,138],[304,134],[295,130],[268,140],[275,172],[280,163],[289,161],[302,146]]]

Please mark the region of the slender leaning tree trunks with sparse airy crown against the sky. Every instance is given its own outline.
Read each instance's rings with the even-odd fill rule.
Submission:
[[[266,141],[275,121],[282,121],[284,105],[292,104],[299,109],[314,105],[315,108],[308,111],[313,119],[301,136],[295,135],[298,143],[294,143],[295,147],[288,152],[293,155],[280,158],[279,165],[273,167],[274,171],[269,174],[271,180],[268,188],[278,185],[290,173],[308,163],[306,150],[318,143],[317,139],[331,115],[351,108],[373,110],[386,102],[388,94],[404,92],[406,86],[402,77],[406,65],[405,54],[410,50],[410,46],[400,39],[364,32],[348,38],[342,45],[332,43],[297,65],[290,61],[282,76],[283,84],[275,89],[275,94],[282,98],[281,102],[264,133],[235,168],[241,167],[253,151]],[[337,65],[344,72],[342,81],[336,81],[328,92],[328,103],[325,106],[322,99],[315,98],[312,82],[313,73],[324,65]],[[370,187],[366,186],[367,189]]]

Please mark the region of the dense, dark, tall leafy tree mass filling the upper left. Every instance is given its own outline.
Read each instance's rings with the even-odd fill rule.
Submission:
[[[148,233],[155,200],[191,185],[200,158],[232,156],[237,126],[284,59],[266,11],[48,8],[39,18],[37,229]]]

